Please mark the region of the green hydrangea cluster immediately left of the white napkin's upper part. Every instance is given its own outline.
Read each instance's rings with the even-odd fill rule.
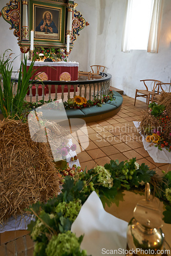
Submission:
[[[61,202],[56,206],[55,211],[61,212],[63,217],[75,221],[81,209],[81,200],[74,200],[69,203]]]

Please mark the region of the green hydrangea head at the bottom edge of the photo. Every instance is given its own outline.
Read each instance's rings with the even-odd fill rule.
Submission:
[[[75,236],[70,230],[65,233],[59,233],[58,236],[52,236],[47,248],[46,253],[48,256],[86,256],[87,251],[80,249],[79,238]]]

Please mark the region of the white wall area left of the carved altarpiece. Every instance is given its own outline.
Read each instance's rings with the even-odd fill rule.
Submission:
[[[0,10],[2,11],[3,7],[6,6],[7,0],[1,0],[0,1]],[[7,49],[11,49],[13,55],[11,56],[11,59],[15,58],[13,62],[13,71],[17,71],[20,65],[20,61],[22,59],[23,54],[19,50],[19,46],[17,44],[18,40],[14,36],[13,32],[14,29],[10,30],[10,24],[7,23],[4,18],[0,17],[0,56],[3,56],[3,53]],[[11,53],[11,51],[9,51]]]

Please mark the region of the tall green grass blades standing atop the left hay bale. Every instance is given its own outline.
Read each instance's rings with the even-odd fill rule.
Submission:
[[[27,70],[27,57],[24,56],[24,59],[20,63],[19,73],[18,73],[18,83],[17,91],[14,95],[13,93],[13,84],[14,79],[12,80],[12,62],[9,57],[6,57],[6,52],[3,54],[3,57],[0,58],[0,74],[3,78],[3,88],[0,86],[0,109],[4,115],[4,118],[18,118],[24,110],[24,98],[29,90],[29,85],[32,83],[33,79],[31,77],[34,75],[35,71],[33,70],[34,61],[31,62],[29,69]],[[18,117],[17,117],[18,116]]]

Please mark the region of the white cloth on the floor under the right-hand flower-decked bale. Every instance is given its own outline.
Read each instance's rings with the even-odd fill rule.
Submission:
[[[134,122],[134,125],[138,131],[139,122]],[[148,152],[149,156],[153,158],[155,163],[171,163],[171,152],[166,151],[165,148],[162,148],[162,151],[160,151],[158,147],[155,147],[155,144],[150,146],[151,143],[147,142],[142,134],[140,135],[142,136],[144,149]]]

